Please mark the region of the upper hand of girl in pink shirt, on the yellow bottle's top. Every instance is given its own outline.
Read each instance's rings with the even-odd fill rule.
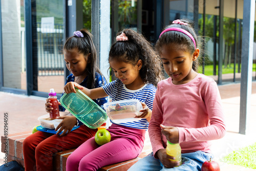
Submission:
[[[174,126],[164,126],[160,124],[161,133],[165,135],[166,139],[173,144],[179,143],[179,130]]]

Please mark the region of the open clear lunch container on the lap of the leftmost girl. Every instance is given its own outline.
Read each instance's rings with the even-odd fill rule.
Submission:
[[[67,116],[71,114],[69,112],[59,112],[59,115]],[[39,116],[38,120],[40,121],[41,126],[47,129],[56,129],[56,127],[62,121],[62,119],[51,119],[49,114]]]

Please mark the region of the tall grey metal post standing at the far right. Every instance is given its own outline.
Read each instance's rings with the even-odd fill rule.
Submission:
[[[239,133],[249,130],[255,1],[244,0]],[[251,130],[252,131],[252,130]]]

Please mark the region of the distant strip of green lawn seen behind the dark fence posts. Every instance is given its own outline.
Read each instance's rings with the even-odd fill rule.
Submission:
[[[252,64],[252,71],[256,71],[256,63]],[[203,73],[202,66],[199,66],[198,72]],[[237,72],[238,72],[238,64],[236,65],[236,73]],[[240,67],[240,72],[241,72],[241,67]],[[231,63],[230,67],[229,66],[227,68],[224,68],[224,66],[222,67],[222,74],[229,74],[229,73],[234,73],[233,63]],[[214,65],[204,66],[204,75],[214,75]],[[216,66],[216,75],[218,75],[218,65]]]

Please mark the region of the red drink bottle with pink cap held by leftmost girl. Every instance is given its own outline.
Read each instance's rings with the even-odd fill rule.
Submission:
[[[54,92],[54,89],[50,89],[49,97],[50,103],[52,103],[51,107],[53,110],[50,112],[50,118],[56,119],[57,116],[59,116],[59,102],[57,100],[56,92]]]

